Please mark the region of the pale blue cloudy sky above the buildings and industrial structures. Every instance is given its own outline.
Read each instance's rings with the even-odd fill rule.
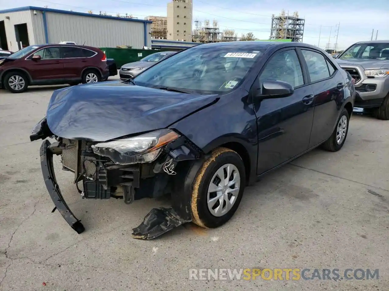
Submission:
[[[166,0],[18,0],[2,3],[2,9],[20,6],[47,5],[49,8],[74,10],[93,13],[107,12],[116,15],[132,14],[138,18],[145,16],[166,16]],[[62,4],[61,4],[62,3]],[[370,3],[372,5],[370,5]],[[389,3],[388,0],[193,0],[193,21],[206,19],[212,23],[216,19],[221,30],[235,29],[238,36],[251,31],[260,39],[270,36],[271,16],[279,15],[284,9],[289,14],[298,11],[305,18],[303,42],[319,44],[324,48],[336,42],[336,33],[340,23],[338,47],[345,49],[354,42],[370,40],[372,29],[378,30],[378,39],[389,39]],[[332,29],[331,29],[332,26]],[[193,23],[193,28],[195,24]],[[331,32],[331,34],[330,34]],[[374,32],[374,38],[375,38]]]

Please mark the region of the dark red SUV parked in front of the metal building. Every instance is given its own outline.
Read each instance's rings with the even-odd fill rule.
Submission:
[[[77,85],[107,80],[105,54],[84,45],[30,45],[0,59],[0,88],[24,92],[28,85]]]

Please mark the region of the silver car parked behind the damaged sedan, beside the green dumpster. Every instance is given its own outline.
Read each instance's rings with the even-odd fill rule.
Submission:
[[[137,76],[140,72],[160,62],[176,52],[156,52],[155,54],[147,55],[138,62],[130,62],[124,64],[119,71],[121,80],[126,80]]]

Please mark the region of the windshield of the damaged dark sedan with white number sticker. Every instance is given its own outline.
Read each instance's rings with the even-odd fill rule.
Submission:
[[[262,54],[261,49],[191,48],[155,64],[133,80],[146,87],[227,92],[240,85]]]

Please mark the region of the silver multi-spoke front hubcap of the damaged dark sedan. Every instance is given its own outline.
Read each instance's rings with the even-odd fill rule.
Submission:
[[[237,201],[240,187],[239,170],[233,164],[221,166],[212,177],[208,187],[208,210],[221,217],[231,210]]]

